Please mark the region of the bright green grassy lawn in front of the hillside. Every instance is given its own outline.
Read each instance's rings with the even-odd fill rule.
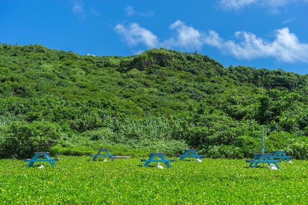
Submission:
[[[139,158],[60,156],[53,168],[0,160],[2,205],[302,205],[308,201],[308,161],[248,168],[245,160],[192,159],[172,168],[144,167]],[[175,159],[175,158],[174,158]]]

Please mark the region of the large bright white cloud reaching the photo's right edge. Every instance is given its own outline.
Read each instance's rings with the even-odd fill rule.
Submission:
[[[235,42],[224,41],[215,31],[212,31],[205,38],[205,42],[237,59],[275,58],[284,62],[308,62],[308,44],[301,43],[288,28],[277,29],[272,35],[274,40],[268,41],[253,33],[237,31],[235,37],[240,42]],[[216,44],[209,42],[216,42]]]

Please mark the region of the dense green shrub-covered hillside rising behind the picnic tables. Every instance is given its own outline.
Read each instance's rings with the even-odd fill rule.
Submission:
[[[0,44],[0,157],[106,147],[250,158],[264,125],[268,151],[308,159],[307,92],[307,75],[223,67],[198,53],[94,57]]]

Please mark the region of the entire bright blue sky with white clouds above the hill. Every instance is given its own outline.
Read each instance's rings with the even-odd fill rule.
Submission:
[[[0,0],[0,43],[80,55],[152,48],[308,74],[308,0]]]

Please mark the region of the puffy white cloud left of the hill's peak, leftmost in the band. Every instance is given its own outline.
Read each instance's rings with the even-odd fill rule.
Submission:
[[[141,28],[138,24],[132,23],[128,28],[118,24],[115,27],[118,34],[123,37],[123,41],[126,41],[128,45],[138,45],[139,43],[146,45],[148,48],[155,48],[158,44],[157,36],[151,31]]]

